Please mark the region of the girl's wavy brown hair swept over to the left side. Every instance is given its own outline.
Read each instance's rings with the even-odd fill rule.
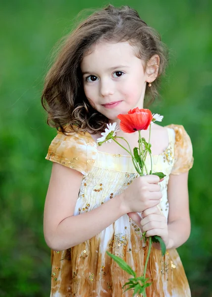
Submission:
[[[68,36],[49,70],[42,105],[48,112],[47,123],[63,133],[90,130],[91,134],[105,130],[108,119],[95,110],[85,96],[80,63],[83,55],[98,41],[128,41],[136,45],[144,70],[150,58],[159,55],[159,72],[145,100],[154,101],[158,94],[161,74],[168,63],[168,50],[159,33],[149,27],[135,9],[129,6],[106,8],[96,11]]]

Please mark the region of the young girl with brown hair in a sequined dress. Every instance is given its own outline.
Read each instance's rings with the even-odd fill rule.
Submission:
[[[143,108],[146,97],[155,99],[166,64],[158,33],[134,9],[109,5],[72,32],[46,77],[42,103],[58,130],[46,157],[53,161],[44,210],[51,297],[131,297],[122,289],[130,275],[106,251],[141,276],[145,231],[161,236],[167,248],[164,257],[158,245],[151,249],[147,296],[191,296],[175,249],[190,234],[188,134],[180,125],[152,125],[153,171],[163,172],[163,180],[138,176],[131,156],[116,143],[97,145],[106,124],[119,125],[118,114]],[[148,130],[141,131],[147,141]],[[117,136],[131,148],[138,144],[138,132],[119,130]]]

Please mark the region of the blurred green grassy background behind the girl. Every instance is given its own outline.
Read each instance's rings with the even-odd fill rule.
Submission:
[[[40,97],[52,48],[84,8],[103,0],[0,1],[0,297],[48,297],[50,249],[43,209],[55,135]],[[182,124],[194,148],[189,174],[192,233],[178,249],[193,297],[212,296],[212,1],[113,0],[138,10],[170,49],[163,124]]]

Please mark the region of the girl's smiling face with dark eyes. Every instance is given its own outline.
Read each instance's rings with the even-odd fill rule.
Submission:
[[[82,60],[81,70],[87,99],[109,120],[134,107],[143,108],[148,76],[128,42],[93,45]]]

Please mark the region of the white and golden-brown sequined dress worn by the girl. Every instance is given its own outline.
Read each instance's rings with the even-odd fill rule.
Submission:
[[[161,154],[153,155],[153,171],[166,174],[160,183],[160,207],[167,218],[169,175],[188,171],[193,156],[191,140],[183,126],[172,124],[166,128],[169,145]],[[98,151],[88,132],[67,136],[58,132],[46,159],[83,174],[74,215],[115,198],[138,176],[130,156]],[[150,166],[150,158],[147,165]],[[130,275],[119,268],[106,250],[123,258],[139,276],[143,274],[147,248],[140,228],[126,214],[82,244],[63,251],[52,250],[51,297],[132,297],[132,291],[123,294],[122,289]],[[147,277],[152,282],[148,297],[191,296],[176,249],[169,249],[162,257],[160,250],[152,248]]]

